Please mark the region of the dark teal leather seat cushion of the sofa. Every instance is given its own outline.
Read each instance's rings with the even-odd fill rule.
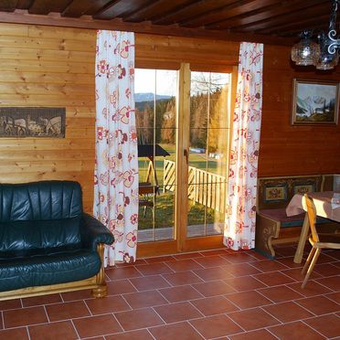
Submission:
[[[101,269],[99,254],[93,250],[52,249],[37,251],[31,256],[8,255],[0,252],[0,292],[80,281],[96,275]]]

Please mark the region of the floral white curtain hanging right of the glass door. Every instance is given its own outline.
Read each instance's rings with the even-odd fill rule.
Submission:
[[[223,241],[232,250],[250,250],[255,247],[262,63],[262,44],[240,44]]]

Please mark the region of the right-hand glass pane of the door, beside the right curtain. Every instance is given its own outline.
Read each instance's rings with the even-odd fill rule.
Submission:
[[[188,238],[221,234],[227,189],[227,73],[191,72]]]

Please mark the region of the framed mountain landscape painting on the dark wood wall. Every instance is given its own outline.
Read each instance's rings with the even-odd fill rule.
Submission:
[[[292,124],[337,124],[339,82],[293,80]]]

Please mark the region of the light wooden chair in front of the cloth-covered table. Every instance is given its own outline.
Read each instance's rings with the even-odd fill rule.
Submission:
[[[313,199],[309,197],[307,194],[304,195],[304,199],[307,206],[309,226],[311,228],[311,236],[309,238],[309,242],[312,245],[312,250],[309,253],[308,258],[303,267],[302,271],[303,274],[307,271],[307,268],[308,271],[305,274],[301,288],[304,288],[309,277],[311,276],[315,263],[321,254],[321,250],[323,249],[340,250],[340,234],[318,233],[315,228],[316,209],[313,203]]]

